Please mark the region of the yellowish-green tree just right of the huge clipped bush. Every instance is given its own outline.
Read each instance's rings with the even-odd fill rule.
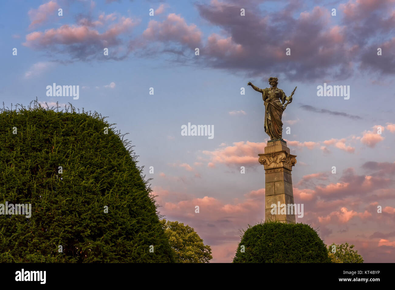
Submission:
[[[193,228],[178,221],[160,220],[162,227],[174,251],[177,263],[209,263],[211,247],[203,243],[203,239]]]

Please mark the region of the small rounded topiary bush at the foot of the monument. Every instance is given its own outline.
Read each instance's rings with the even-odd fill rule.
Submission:
[[[249,226],[233,258],[233,263],[330,262],[324,242],[309,225],[273,221]]]

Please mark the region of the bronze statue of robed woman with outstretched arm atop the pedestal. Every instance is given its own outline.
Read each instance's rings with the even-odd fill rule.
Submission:
[[[277,88],[277,78],[270,77],[269,84],[270,88],[260,89],[248,82],[248,86],[252,86],[254,90],[262,93],[262,99],[265,104],[265,132],[270,136],[270,140],[282,139],[282,112],[292,102],[292,95],[297,87],[287,97],[281,89]],[[285,103],[285,101],[287,102]]]

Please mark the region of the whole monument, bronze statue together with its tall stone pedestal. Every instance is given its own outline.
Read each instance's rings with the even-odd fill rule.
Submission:
[[[290,154],[290,148],[282,139],[282,112],[287,105],[292,102],[292,94],[286,94],[277,88],[278,79],[269,78],[270,88],[260,89],[251,86],[257,92],[262,93],[265,105],[264,128],[270,140],[267,141],[265,153],[259,155],[259,163],[265,168],[265,220],[281,221],[283,223],[296,223],[293,208],[293,189],[292,189],[292,167],[296,164],[296,155]],[[276,205],[276,208],[273,207]],[[278,206],[286,205],[278,208]]]

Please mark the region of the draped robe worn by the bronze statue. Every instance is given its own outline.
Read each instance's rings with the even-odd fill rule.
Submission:
[[[262,99],[265,104],[265,132],[271,140],[282,138],[282,112],[284,111],[282,103],[285,103],[285,93],[277,88],[271,92],[270,88],[262,90]],[[281,100],[281,101],[280,101]]]

